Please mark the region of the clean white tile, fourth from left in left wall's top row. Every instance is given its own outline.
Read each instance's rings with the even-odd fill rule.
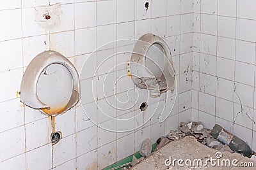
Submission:
[[[96,26],[96,2],[75,4],[75,28]]]

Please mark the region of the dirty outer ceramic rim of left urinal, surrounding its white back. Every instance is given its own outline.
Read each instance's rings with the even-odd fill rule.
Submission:
[[[63,106],[61,112],[59,113],[45,113],[45,111],[42,109],[49,110],[51,109],[51,106],[42,103],[36,92],[40,74],[51,64],[61,64],[62,66],[65,66],[70,72],[73,81],[73,89],[70,99],[67,105]],[[31,60],[28,67],[26,68],[20,85],[20,101],[30,108],[40,110],[41,113],[56,116],[60,113],[67,112],[78,103],[80,99],[80,90],[79,74],[77,73],[77,70],[73,64],[60,53],[49,50],[36,55],[36,57]]]

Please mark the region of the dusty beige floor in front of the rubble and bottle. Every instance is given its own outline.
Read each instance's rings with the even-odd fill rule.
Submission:
[[[170,162],[166,161],[166,159],[170,160],[170,157],[172,158],[171,162],[177,159],[174,161],[174,164],[170,165]],[[217,159],[217,157],[220,159]],[[184,162],[180,160],[180,166],[177,162],[179,159],[184,160]],[[191,160],[191,166],[187,166],[190,164],[188,159]],[[198,162],[200,165],[200,161],[197,161],[198,159],[202,160],[202,166],[197,166]],[[209,160],[207,161],[207,159]],[[237,162],[234,159],[237,159]],[[237,166],[232,165],[233,160]],[[195,162],[195,166],[193,166],[193,162]],[[204,166],[205,162],[207,162],[206,166]],[[228,166],[228,162],[230,162],[230,166]],[[254,167],[252,167],[252,164]],[[168,143],[168,145],[152,153],[152,155],[132,167],[132,170],[144,169],[256,169],[256,162],[243,157],[239,153],[219,152],[202,145],[192,136],[186,136],[186,138]]]

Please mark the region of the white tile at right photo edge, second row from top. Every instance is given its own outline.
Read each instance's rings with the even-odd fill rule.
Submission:
[[[237,18],[236,38],[245,41],[256,41],[256,20]]]

